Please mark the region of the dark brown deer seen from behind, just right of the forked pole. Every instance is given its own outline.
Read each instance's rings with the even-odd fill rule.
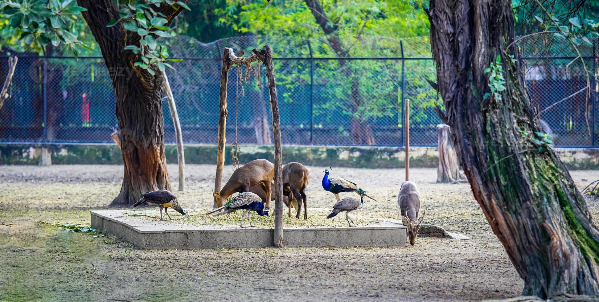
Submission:
[[[308,219],[308,204],[305,197],[305,188],[308,187],[308,169],[299,162],[290,162],[283,167],[283,195],[287,195],[289,200],[297,209],[295,218],[299,219],[301,205],[304,204],[304,219]],[[291,216],[291,207],[288,206],[289,216]]]

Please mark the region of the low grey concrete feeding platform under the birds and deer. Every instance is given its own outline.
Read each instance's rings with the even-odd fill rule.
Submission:
[[[128,210],[94,210],[92,227],[120,237],[140,249],[228,249],[271,247],[273,228],[230,225],[190,225],[179,221],[149,221],[126,215]],[[171,215],[174,217],[174,215]],[[167,219],[167,217],[164,217]],[[343,219],[345,220],[345,219]],[[247,221],[247,218],[246,218]],[[349,227],[283,228],[285,246],[406,246],[406,226],[382,219]]]

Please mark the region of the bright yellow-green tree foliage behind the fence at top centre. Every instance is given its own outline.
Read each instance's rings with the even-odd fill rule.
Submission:
[[[226,26],[243,34],[258,35],[258,45],[273,46],[274,55],[279,57],[310,56],[307,41],[310,41],[312,55],[316,58],[339,56],[332,49],[328,38],[316,23],[304,0],[291,1],[228,1],[226,7],[216,8],[214,14]],[[406,1],[320,1],[326,17],[336,28],[334,34],[341,42],[346,56],[353,57],[399,57],[402,38],[416,39],[418,45],[413,56],[430,56],[428,42],[428,17],[420,2]],[[263,35],[268,35],[262,38]],[[420,41],[422,40],[422,41]],[[422,47],[420,47],[422,46]],[[285,102],[301,102],[302,93],[298,83],[310,81],[309,61],[275,61],[277,85],[284,86],[282,93]],[[412,68],[432,71],[429,62],[415,62]],[[410,73],[407,73],[409,75]],[[426,74],[429,74],[426,72]],[[432,80],[434,77],[431,77]],[[406,78],[418,93],[413,95],[413,119],[426,119],[422,108],[431,107],[437,102],[436,93],[422,76]],[[316,123],[337,119],[339,112],[352,119],[367,120],[379,117],[398,116],[401,112],[401,63],[400,61],[353,60],[343,66],[337,60],[314,61],[315,89],[325,96],[323,101],[314,104]],[[352,94],[358,95],[356,104]],[[326,97],[330,96],[330,97]],[[398,120],[400,124],[400,120]],[[346,133],[346,129],[339,128]]]

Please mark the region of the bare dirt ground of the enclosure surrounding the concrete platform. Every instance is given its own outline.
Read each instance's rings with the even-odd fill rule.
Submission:
[[[168,168],[177,188],[177,168]],[[320,186],[323,168],[308,169],[308,207],[331,207],[333,195]],[[214,170],[186,166],[187,189],[177,192],[184,207],[210,207]],[[231,167],[225,173],[226,180]],[[403,173],[331,170],[332,177],[353,180],[380,201],[365,202],[362,215],[392,219],[400,219]],[[580,185],[598,176],[571,174]],[[470,186],[438,185],[432,168],[413,168],[410,177],[419,185],[425,222],[470,240],[421,237],[415,246],[374,248],[140,250],[117,237],[39,223],[89,222],[89,210],[104,208],[119,192],[121,166],[3,166],[0,221],[11,226],[0,225],[0,300],[479,301],[519,295],[522,280]],[[599,203],[589,201],[589,208],[597,222]]]

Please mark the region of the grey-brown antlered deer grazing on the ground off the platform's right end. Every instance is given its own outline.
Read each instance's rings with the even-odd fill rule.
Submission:
[[[401,210],[401,222],[407,226],[407,237],[410,239],[410,244],[414,245],[416,236],[418,236],[418,230],[422,219],[426,214],[426,210],[418,218],[418,211],[420,210],[420,192],[416,188],[414,182],[403,182],[400,188],[400,194],[397,197],[397,203],[400,204]]]

